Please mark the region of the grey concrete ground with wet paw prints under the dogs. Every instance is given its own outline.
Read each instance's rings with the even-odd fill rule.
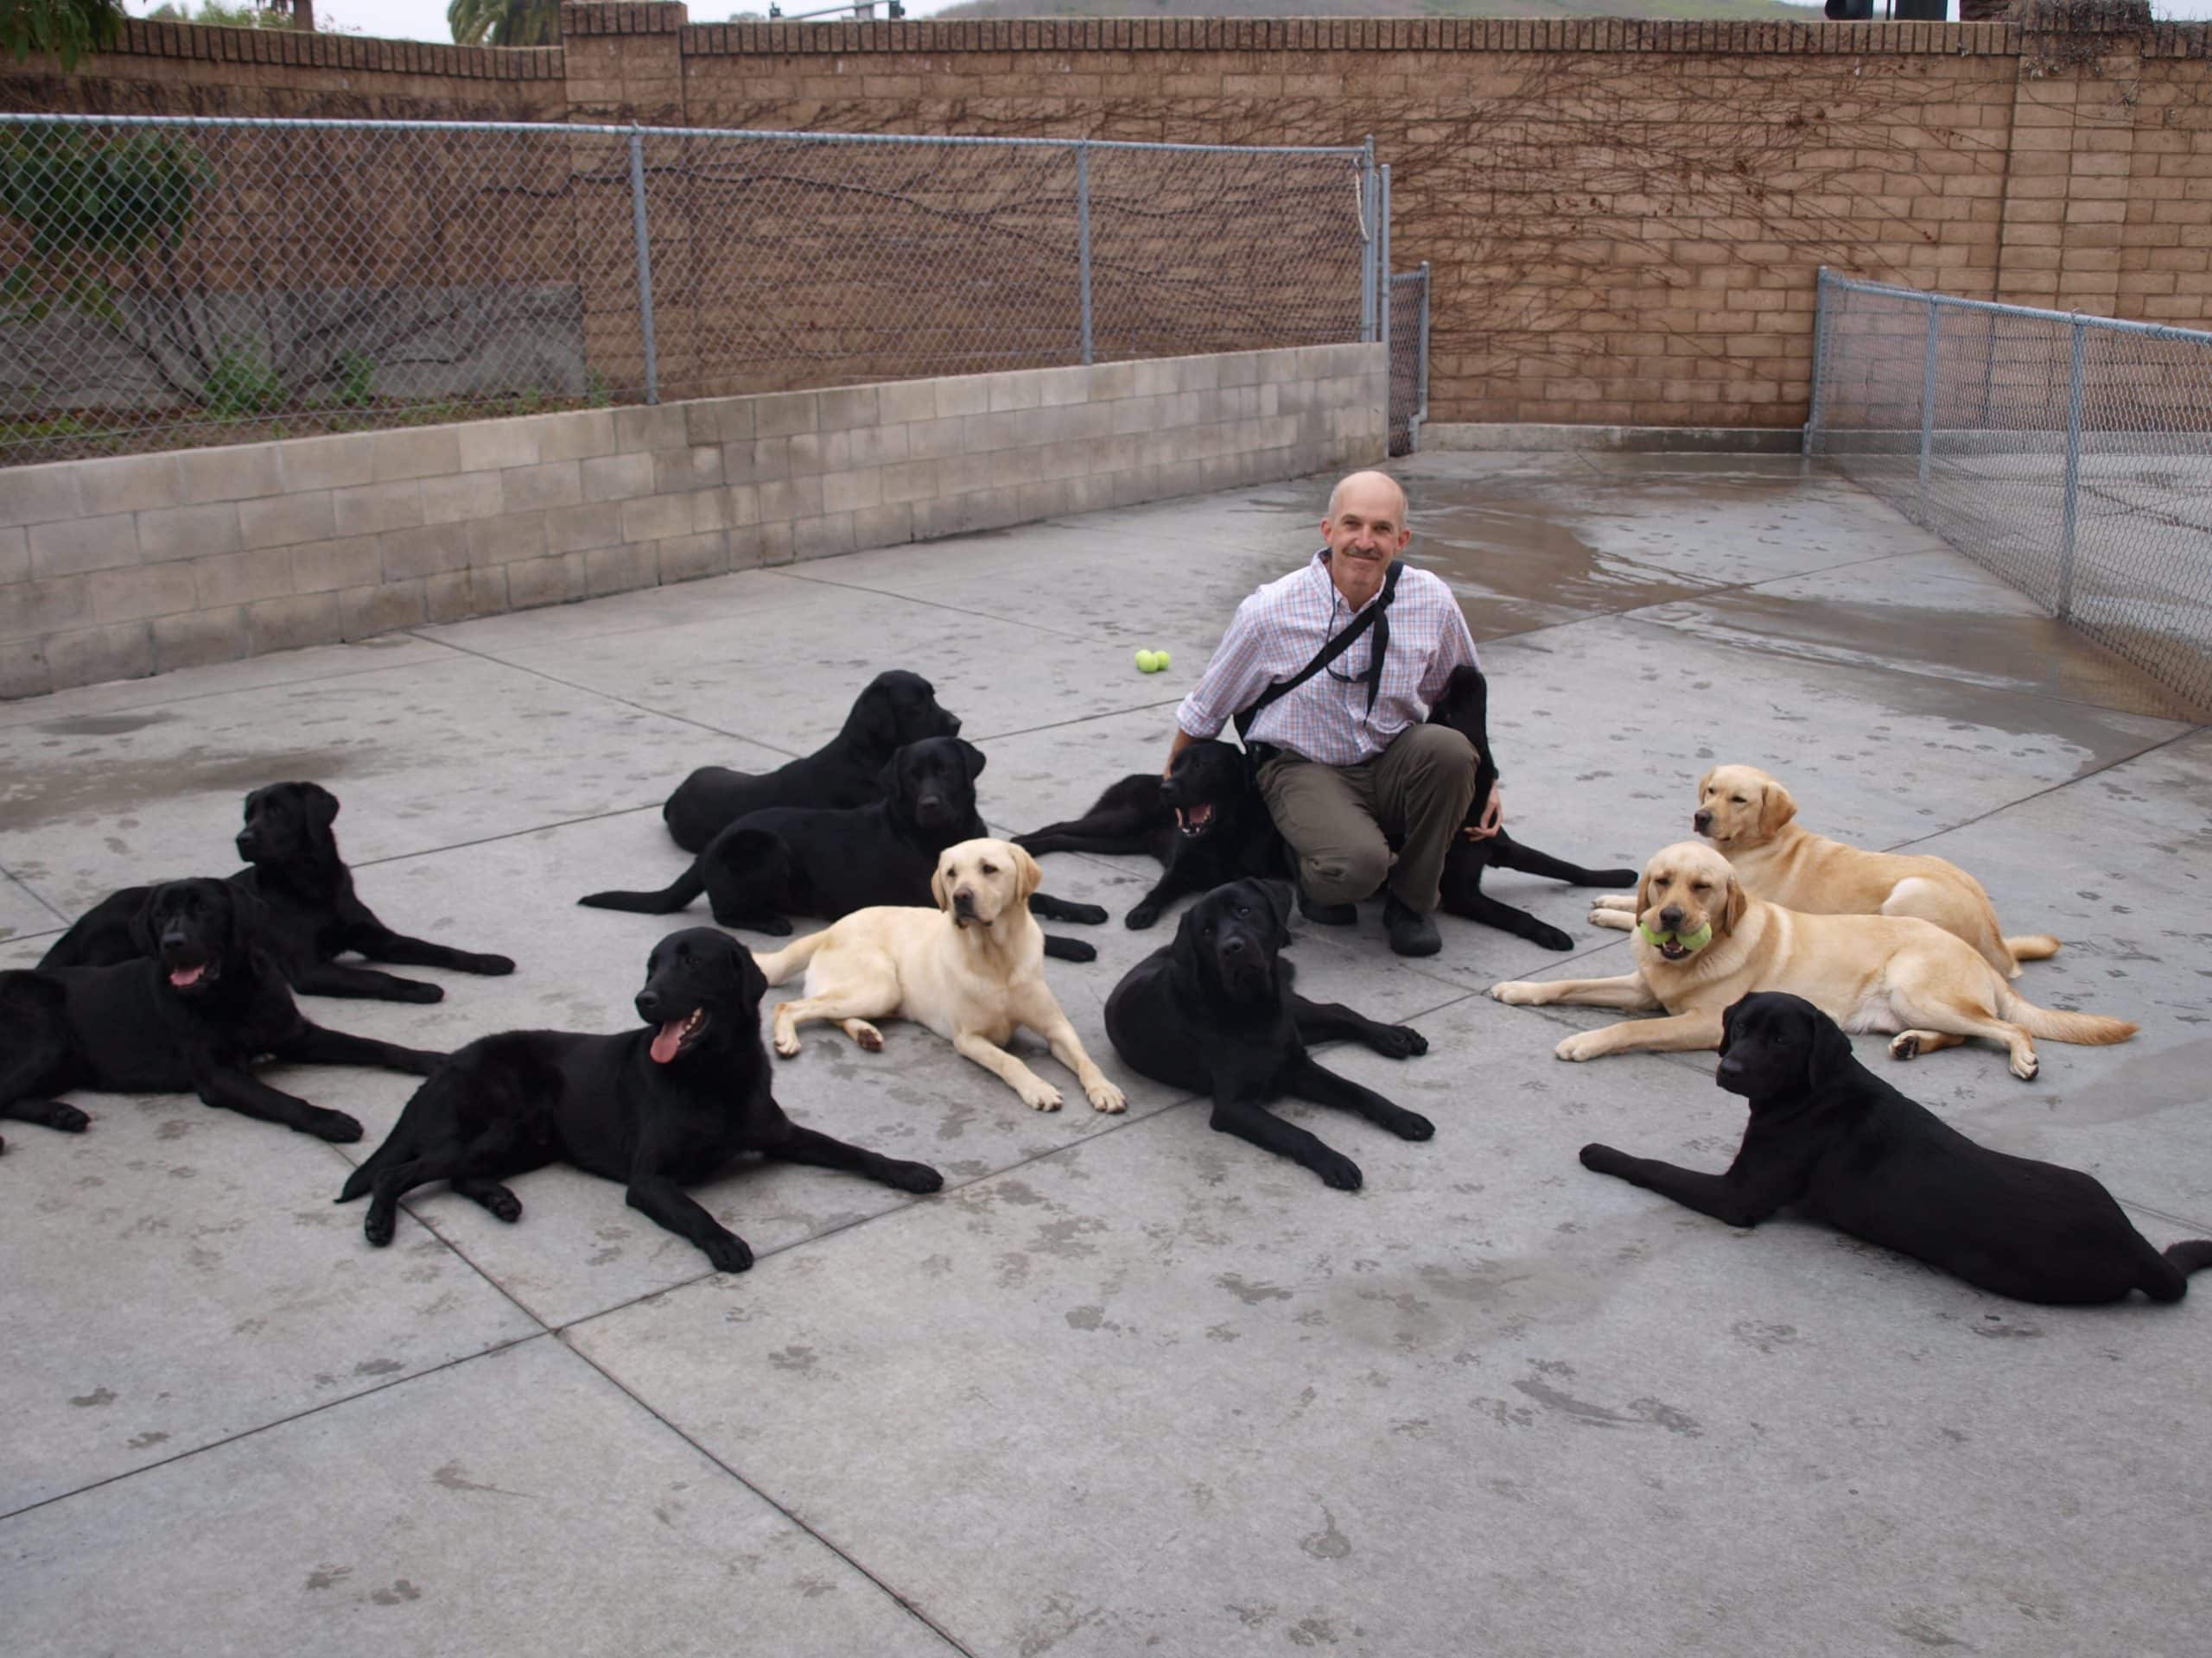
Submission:
[[[1960,860],[2066,940],[2031,995],[2143,1032],[2044,1043],[2035,1083],[1986,1048],[1885,1074],[2095,1172],[2161,1245],[2212,1236],[2203,710],[1794,460],[1402,473],[1482,641],[1515,831],[1635,864],[1705,765],[1750,760],[1814,829]],[[0,705],[0,964],[115,884],[230,869],[239,796],[319,778],[385,920],[522,968],[312,1017],[624,1028],[664,922],[573,900],[681,867],[655,807],[688,767],[812,749],[902,665],[989,754],[993,825],[1075,811],[1159,763],[1325,482]],[[1137,646],[1175,668],[1139,676]],[[1146,882],[1048,875],[1115,915]],[[1126,1116],[1073,1088],[1031,1114],[911,1026],[883,1054],[814,1035],[779,1099],[947,1189],[737,1169],[701,1200],[743,1276],[562,1169],[515,1183],[515,1227],[427,1192],[372,1251],[330,1198],[405,1077],[276,1072],[367,1123],[343,1150],[177,1096],[9,1123],[7,1651],[2203,1651],[2212,1282],[2024,1307],[1586,1174],[1593,1138],[1721,1167],[1743,1108],[1703,1054],[1555,1061],[1610,1015],[1482,988],[1626,944],[1575,891],[1493,891],[1579,953],[1447,922],[1405,964],[1371,909],[1301,926],[1310,993],[1431,1043],[1332,1057],[1431,1143],[1290,1108],[1365,1167],[1354,1196],[1117,1066],[1099,1008],[1168,937],[1119,922],[1053,982]]]

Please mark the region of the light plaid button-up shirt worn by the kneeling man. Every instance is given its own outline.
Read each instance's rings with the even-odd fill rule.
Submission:
[[[1367,604],[1378,604],[1380,592]],[[1363,606],[1365,608],[1365,606]],[[1175,710],[1190,736],[1221,736],[1241,707],[1281,679],[1294,679],[1321,648],[1360,612],[1345,604],[1329,577],[1329,550],[1312,564],[1270,581],[1241,606],[1206,663],[1206,674]],[[1475,661],[1475,639],[1451,588],[1411,564],[1389,601],[1389,650],[1383,690],[1367,712],[1363,674],[1371,663],[1374,628],[1294,692],[1274,699],[1252,721],[1250,738],[1303,754],[1321,765],[1360,765],[1376,758],[1405,727],[1429,718],[1451,670]]]

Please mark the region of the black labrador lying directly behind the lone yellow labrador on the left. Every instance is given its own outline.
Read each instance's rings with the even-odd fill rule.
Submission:
[[[692,867],[657,893],[608,891],[580,898],[593,909],[670,915],[706,893],[714,922],[785,935],[785,915],[838,920],[876,904],[929,904],[938,853],[987,836],[975,811],[975,776],[984,754],[958,736],[907,743],[883,765],[883,800],[872,807],[768,807],[723,829]],[[1104,922],[1097,904],[1071,904],[1035,893],[1035,915],[1055,922]],[[1046,937],[1066,962],[1091,962],[1097,948]]]

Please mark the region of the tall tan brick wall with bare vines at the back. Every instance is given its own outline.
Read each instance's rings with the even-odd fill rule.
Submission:
[[[86,108],[230,88],[252,113],[509,99],[533,119],[695,126],[1371,133],[1394,263],[1433,270],[1436,422],[1796,424],[1823,263],[2174,323],[2212,298],[2205,27],[2115,35],[2090,66],[2015,24],[1918,22],[688,24],[677,4],[566,4],[564,46],[540,53],[250,38],[319,53],[288,64],[204,40],[234,31],[157,29],[46,80]],[[714,318],[670,327],[712,338]]]

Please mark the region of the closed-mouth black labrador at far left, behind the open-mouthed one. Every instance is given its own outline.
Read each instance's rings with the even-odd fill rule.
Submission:
[[[246,796],[239,858],[248,867],[230,875],[230,884],[257,900],[257,942],[276,962],[285,984],[316,997],[374,1001],[445,997],[442,986],[332,959],[345,951],[372,962],[456,973],[515,970],[504,955],[478,955],[405,937],[376,920],[354,895],[354,871],[338,856],[338,838],[330,829],[336,818],[338,796],[321,783],[270,783]],[[148,891],[153,889],[124,886],[102,898],[55,940],[40,957],[40,968],[111,966],[139,955],[131,922],[144,909]]]

